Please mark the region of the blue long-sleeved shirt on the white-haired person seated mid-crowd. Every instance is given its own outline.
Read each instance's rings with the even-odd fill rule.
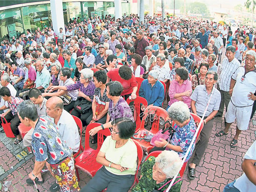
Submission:
[[[156,81],[152,87],[147,79],[143,80],[139,90],[139,96],[147,100],[147,104],[162,106],[164,100],[164,87],[160,81]]]

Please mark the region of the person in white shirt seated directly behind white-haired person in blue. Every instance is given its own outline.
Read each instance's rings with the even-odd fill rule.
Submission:
[[[165,65],[165,55],[159,54],[157,55],[157,62],[152,63],[153,70],[157,70],[159,72],[158,80],[167,82],[170,76],[170,68],[169,66]]]

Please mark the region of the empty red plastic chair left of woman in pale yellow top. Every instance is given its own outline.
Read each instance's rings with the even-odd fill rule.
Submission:
[[[110,129],[104,129],[98,132],[98,140],[97,140],[97,149],[94,150],[90,147],[90,134],[89,131],[94,127],[101,125],[100,123],[91,123],[86,128],[86,141],[84,143],[83,152],[75,159],[75,167],[78,181],[79,173],[78,168],[82,169],[84,172],[88,173],[91,177],[93,177],[96,172],[102,167],[101,164],[96,162],[96,157],[100,150],[100,147],[104,141],[103,136],[111,135]]]

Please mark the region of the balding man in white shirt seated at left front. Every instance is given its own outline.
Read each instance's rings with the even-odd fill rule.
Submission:
[[[46,102],[46,112],[48,116],[54,119],[60,136],[70,146],[73,153],[78,152],[80,145],[78,128],[72,115],[63,109],[61,98],[53,96],[48,99]]]

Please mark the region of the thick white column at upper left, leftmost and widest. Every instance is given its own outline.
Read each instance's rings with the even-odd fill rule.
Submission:
[[[59,28],[62,28],[63,31],[65,31],[62,0],[50,0],[50,6],[54,32],[57,34]]]

